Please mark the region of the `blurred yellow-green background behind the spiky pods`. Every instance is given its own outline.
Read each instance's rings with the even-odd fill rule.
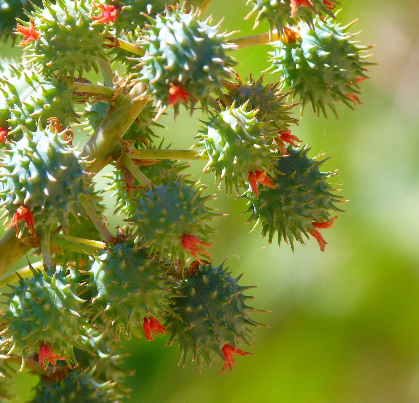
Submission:
[[[245,0],[212,0],[208,9],[223,28],[251,35]],[[317,119],[309,108],[293,134],[332,155],[328,169],[349,199],[346,214],[330,230],[322,253],[315,240],[267,247],[260,230],[244,225],[245,202],[218,193],[219,219],[213,237],[216,264],[228,256],[242,284],[255,284],[258,308],[253,357],[238,357],[233,374],[221,362],[199,374],[195,363],[178,367],[178,348],[164,337],[129,341],[126,365],[130,402],[154,403],[414,403],[419,401],[419,2],[347,0],[342,23],[359,18],[363,44],[375,44],[371,80],[362,83],[363,104],[340,107],[340,121]],[[261,24],[256,33],[267,30]],[[242,49],[237,71],[258,76],[269,66],[269,46]],[[10,54],[7,46],[1,54]],[[265,82],[278,77],[267,75]],[[299,112],[296,110],[295,114]],[[173,147],[190,147],[199,129],[183,111],[163,118]],[[203,163],[194,163],[198,177]],[[213,178],[203,177],[211,184]],[[99,180],[101,183],[103,179]],[[112,201],[109,201],[111,204]],[[114,220],[112,224],[116,225]],[[21,260],[15,269],[24,266]],[[36,377],[19,374],[14,389],[24,401]]]

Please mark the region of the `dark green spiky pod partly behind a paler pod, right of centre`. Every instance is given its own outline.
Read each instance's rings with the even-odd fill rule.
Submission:
[[[287,148],[288,155],[277,160],[274,175],[274,189],[264,187],[256,198],[249,188],[243,195],[249,200],[248,222],[256,221],[255,226],[262,226],[262,237],[269,234],[272,243],[275,232],[278,244],[281,240],[290,242],[294,250],[294,238],[304,244],[302,235],[309,238],[308,231],[316,231],[314,222],[331,220],[330,211],[339,211],[334,205],[342,202],[343,197],[333,194],[336,191],[326,181],[337,175],[336,171],[321,172],[319,168],[328,160],[310,159],[310,148],[300,150]]]

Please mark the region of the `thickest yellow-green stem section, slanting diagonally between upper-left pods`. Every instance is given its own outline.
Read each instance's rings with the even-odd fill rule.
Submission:
[[[145,83],[137,83],[127,96],[115,105],[111,104],[95,134],[83,147],[82,156],[93,160],[87,167],[89,172],[96,174],[112,161],[111,155],[119,145],[119,139],[124,137],[149,101],[144,98],[146,89]]]

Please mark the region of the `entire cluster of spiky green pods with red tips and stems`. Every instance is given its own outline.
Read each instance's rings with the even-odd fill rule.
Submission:
[[[328,183],[338,172],[321,172],[326,160],[300,147],[292,113],[310,102],[325,116],[336,103],[352,108],[369,47],[334,21],[336,0],[248,0],[246,18],[270,30],[238,39],[203,18],[209,3],[0,0],[0,41],[19,37],[23,60],[0,57],[0,285],[11,288],[0,401],[18,363],[41,375],[33,403],[119,403],[132,375],[119,340],[133,336],[178,344],[179,362],[199,369],[220,359],[231,372],[234,355],[251,354],[264,326],[250,318],[253,287],[213,264],[209,222],[225,214],[184,173],[194,160],[247,199],[248,222],[269,243],[313,237],[324,251],[320,231],[344,201]],[[279,79],[242,80],[233,51],[268,41]],[[83,78],[92,69],[100,75]],[[181,105],[204,115],[186,150],[156,141]],[[107,187],[94,187],[106,166]],[[3,276],[25,253],[42,261]]]

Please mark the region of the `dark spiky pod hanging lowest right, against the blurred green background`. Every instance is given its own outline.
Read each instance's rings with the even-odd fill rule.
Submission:
[[[241,276],[234,279],[223,265],[202,265],[176,288],[176,316],[168,315],[165,326],[170,333],[169,344],[180,346],[179,363],[183,360],[184,366],[189,354],[199,368],[203,360],[208,365],[213,358],[224,360],[221,349],[225,344],[236,348],[243,342],[250,346],[250,327],[261,326],[249,318],[249,313],[256,310],[246,305],[252,297],[243,294],[253,287],[238,285]]]

